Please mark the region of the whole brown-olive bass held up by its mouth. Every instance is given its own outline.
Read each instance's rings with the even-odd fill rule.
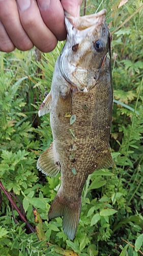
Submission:
[[[48,220],[63,217],[63,231],[70,240],[77,231],[88,175],[113,164],[111,34],[105,14],[105,9],[79,17],[65,13],[66,43],[55,63],[51,90],[39,109],[39,116],[50,112],[53,142],[37,168],[50,177],[61,170],[61,186]]]

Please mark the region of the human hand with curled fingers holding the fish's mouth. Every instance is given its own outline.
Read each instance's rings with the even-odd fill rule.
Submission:
[[[0,0],[0,51],[52,51],[66,39],[64,10],[79,15],[82,0]]]

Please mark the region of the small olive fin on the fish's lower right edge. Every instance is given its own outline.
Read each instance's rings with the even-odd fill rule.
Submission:
[[[100,160],[100,163],[96,166],[96,169],[103,169],[103,168],[109,168],[113,165],[113,159],[111,156],[111,153],[109,151],[109,148],[103,152],[102,158]]]

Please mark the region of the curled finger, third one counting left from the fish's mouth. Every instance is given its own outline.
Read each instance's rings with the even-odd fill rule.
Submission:
[[[15,0],[0,0],[0,20],[16,48],[19,50],[29,50],[33,47],[32,41],[21,26]],[[3,36],[3,44],[6,41],[8,43],[8,37],[4,30]],[[9,51],[9,49],[6,49],[6,51]]]

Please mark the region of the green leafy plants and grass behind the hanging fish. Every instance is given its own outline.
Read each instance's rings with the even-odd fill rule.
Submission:
[[[46,54],[35,48],[0,53],[1,256],[143,255],[143,2],[102,2],[99,10],[107,9],[113,37],[110,147],[115,167],[89,176],[72,242],[61,218],[47,221],[60,175],[45,177],[36,168],[52,141],[49,115],[38,118],[37,113],[64,43]],[[100,3],[84,0],[81,15],[94,13]]]

